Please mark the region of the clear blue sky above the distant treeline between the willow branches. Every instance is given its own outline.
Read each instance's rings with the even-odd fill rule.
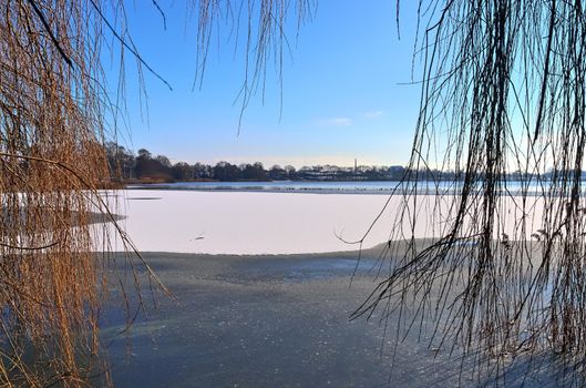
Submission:
[[[354,157],[369,165],[407,163],[419,106],[419,86],[401,84],[411,81],[413,2],[401,2],[400,39],[394,0],[321,0],[298,35],[291,20],[282,111],[277,73],[269,67],[265,98],[259,92],[253,99],[239,134],[241,103],[235,100],[244,81],[243,33],[236,49],[229,28],[214,35],[203,84],[194,90],[196,20],[189,19],[184,1],[158,3],[166,30],[146,0],[127,2],[128,30],[142,57],[173,91],[145,72],[146,113],[134,62],[128,61],[130,131],[120,131],[123,145],[191,163],[349,166]],[[106,72],[115,74],[117,67],[106,64]],[[112,91],[115,86],[111,81]]]

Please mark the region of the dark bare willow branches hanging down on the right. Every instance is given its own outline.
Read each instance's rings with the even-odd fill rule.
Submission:
[[[430,343],[482,349],[497,369],[520,353],[582,361],[584,6],[430,0],[419,9],[429,18],[421,108],[394,196],[395,257],[354,317],[399,312],[405,331],[431,320]],[[432,169],[455,178],[421,182]],[[422,229],[432,243],[417,238]]]

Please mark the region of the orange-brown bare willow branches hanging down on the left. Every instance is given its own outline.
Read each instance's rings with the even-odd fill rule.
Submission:
[[[96,252],[109,247],[112,233],[137,249],[110,210],[115,203],[97,190],[110,176],[102,144],[112,109],[102,43],[116,33],[112,23],[104,29],[105,6],[0,1],[2,387],[86,386],[107,370],[97,318],[111,257]],[[114,232],[94,224],[95,213]],[[109,382],[107,372],[101,381]]]

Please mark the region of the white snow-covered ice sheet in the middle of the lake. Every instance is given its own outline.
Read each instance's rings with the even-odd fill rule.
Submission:
[[[354,251],[359,246],[348,242],[362,238],[379,214],[363,247],[400,237],[391,235],[391,231],[397,226],[401,196],[392,197],[381,213],[389,201],[387,195],[182,190],[128,190],[110,194],[115,194],[117,202],[114,212],[125,216],[121,225],[143,252],[299,254]],[[436,198],[423,195],[418,197],[417,206],[409,207],[402,221],[405,237],[413,233],[414,237],[429,238],[445,232],[449,223],[441,219],[430,223],[428,218],[438,206],[446,213],[451,196],[440,202],[435,202]],[[503,231],[515,238],[513,228],[522,211],[512,202],[505,206],[508,206],[504,212],[508,219]],[[539,204],[532,206],[530,231],[541,227],[541,214]],[[413,227],[415,215],[419,222]],[[123,246],[114,241],[110,249],[123,251]]]

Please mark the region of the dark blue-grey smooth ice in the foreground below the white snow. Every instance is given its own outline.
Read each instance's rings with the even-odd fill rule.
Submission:
[[[331,255],[145,254],[181,305],[147,303],[132,329],[113,290],[101,323],[120,387],[556,387],[547,357],[520,358],[506,376],[476,374],[473,360],[433,341],[423,321],[395,336],[410,312],[350,320],[378,283],[376,259]],[[142,275],[140,274],[140,277]],[[380,280],[380,278],[379,278]],[[145,284],[146,286],[147,284]],[[148,297],[148,288],[144,290]],[[136,307],[132,300],[131,309]]]

